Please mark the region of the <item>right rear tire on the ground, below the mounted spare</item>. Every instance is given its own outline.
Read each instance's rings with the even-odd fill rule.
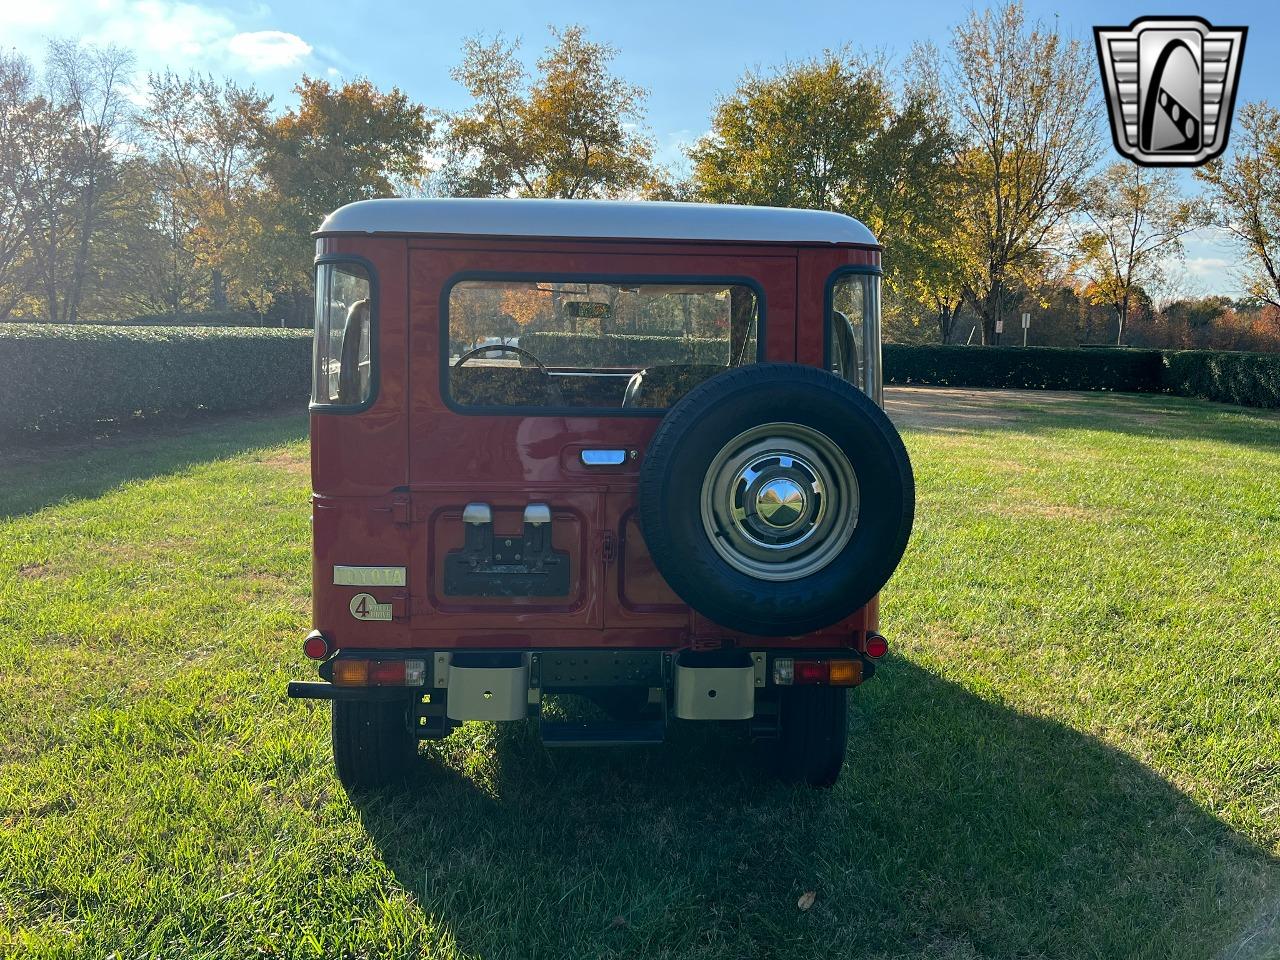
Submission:
[[[840,778],[849,741],[849,694],[842,687],[781,690],[774,769],[785,781],[829,787]]]

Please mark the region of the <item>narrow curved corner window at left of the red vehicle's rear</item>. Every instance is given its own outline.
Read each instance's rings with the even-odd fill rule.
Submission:
[[[355,407],[372,396],[374,320],[372,282],[364,266],[316,264],[312,403]]]

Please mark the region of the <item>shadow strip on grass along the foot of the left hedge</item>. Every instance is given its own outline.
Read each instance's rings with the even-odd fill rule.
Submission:
[[[306,412],[287,410],[137,424],[106,436],[28,442],[0,456],[0,517],[35,513],[61,500],[97,497],[132,480],[306,436]]]

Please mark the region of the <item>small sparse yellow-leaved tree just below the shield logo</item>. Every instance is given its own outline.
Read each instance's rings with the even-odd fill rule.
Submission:
[[[1157,285],[1167,260],[1183,256],[1183,237],[1201,223],[1199,206],[1179,195],[1171,170],[1116,163],[1085,184],[1084,216],[1080,268],[1094,302],[1115,310],[1119,346],[1135,293]]]

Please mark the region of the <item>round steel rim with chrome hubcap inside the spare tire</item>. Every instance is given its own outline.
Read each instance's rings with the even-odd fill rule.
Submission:
[[[726,443],[703,477],[701,520],[716,552],[756,580],[826,568],[858,526],[858,475],[829,436],[762,424]]]

